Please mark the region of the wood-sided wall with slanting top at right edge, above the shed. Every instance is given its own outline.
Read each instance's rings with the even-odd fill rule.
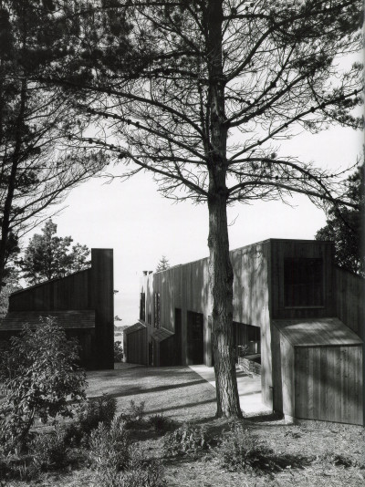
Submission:
[[[339,267],[335,270],[336,315],[365,339],[365,279]]]

